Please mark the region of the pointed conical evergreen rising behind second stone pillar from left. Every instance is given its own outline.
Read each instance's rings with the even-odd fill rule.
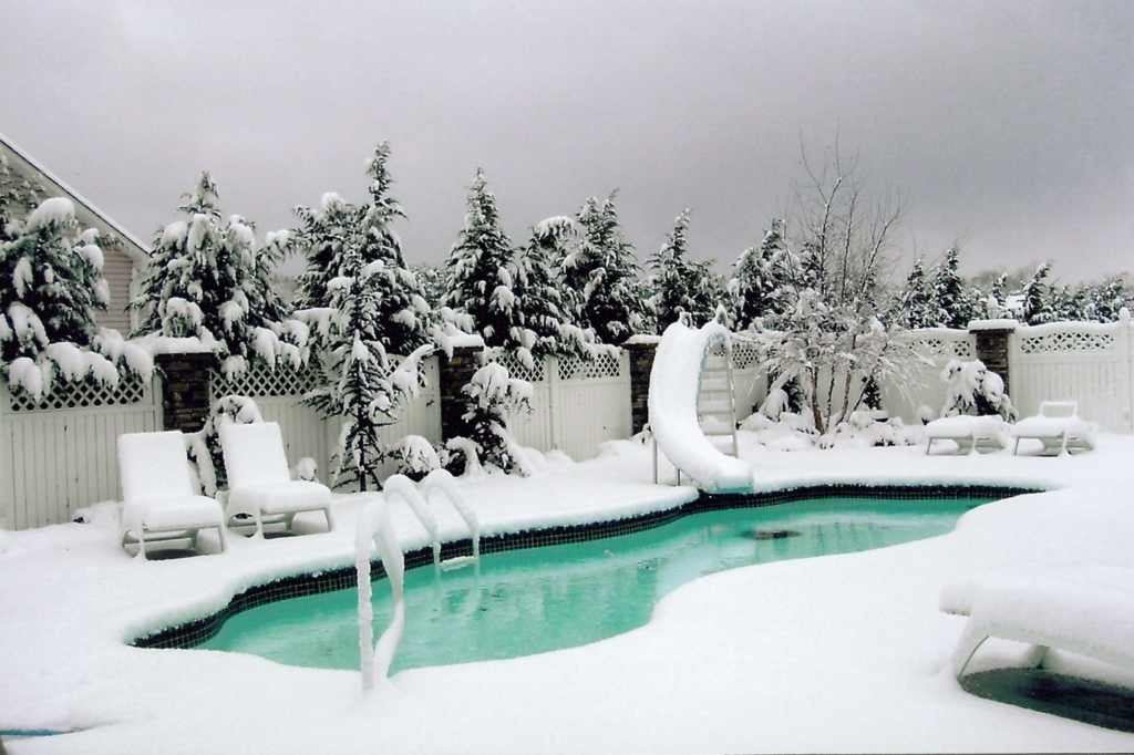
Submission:
[[[496,196],[488,190],[484,172],[468,193],[465,227],[449,253],[449,289],[445,306],[473,319],[486,346],[507,346],[518,324],[511,273],[511,241],[500,228]]]

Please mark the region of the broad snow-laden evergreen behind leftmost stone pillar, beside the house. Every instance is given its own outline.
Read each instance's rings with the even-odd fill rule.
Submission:
[[[213,346],[227,373],[239,373],[254,354],[257,332],[286,314],[273,288],[284,239],[257,248],[255,226],[227,221],[208,172],[185,195],[188,221],[159,229],[138,296],[138,336],[192,336]]]

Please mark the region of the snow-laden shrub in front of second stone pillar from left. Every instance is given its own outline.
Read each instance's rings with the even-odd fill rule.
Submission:
[[[508,423],[513,415],[532,410],[532,384],[510,378],[507,368],[490,362],[462,390],[468,396],[468,412],[462,418],[468,426],[468,439],[477,447],[480,461],[530,476],[532,466]]]

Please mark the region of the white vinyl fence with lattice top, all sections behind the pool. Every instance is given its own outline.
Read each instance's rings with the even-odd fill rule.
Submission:
[[[922,405],[940,412],[945,402],[940,372],[949,359],[976,358],[974,337],[966,331],[922,330],[916,336],[930,364],[909,384],[882,385],[883,407],[907,423],[916,421]],[[582,461],[592,458],[602,442],[629,436],[625,350],[594,360],[545,357],[531,368],[510,356],[492,358],[513,376],[532,382],[533,412],[513,421],[522,446],[560,449]],[[1074,400],[1080,416],[1102,430],[1134,432],[1134,330],[1128,315],[1110,324],[1019,328],[1010,337],[1009,364],[1009,391],[1022,416],[1035,414],[1043,400]],[[737,418],[744,418],[767,393],[767,370],[747,343],[737,343],[734,366]],[[403,407],[397,424],[381,432],[387,446],[408,434],[434,446],[441,441],[437,357],[424,360],[423,371],[426,385],[421,396]],[[314,380],[307,372],[256,367],[232,383],[212,375],[211,400],[229,393],[253,398],[264,419],[280,424],[288,463],[312,457],[323,482],[330,482],[329,456],[340,425],[301,404]],[[23,393],[12,396],[0,381],[0,528],[70,521],[84,506],[118,500],[118,435],[160,430],[160,397],[155,378],[152,384],[124,381],[117,390],[83,383],[35,404]],[[382,476],[393,472],[387,464]]]

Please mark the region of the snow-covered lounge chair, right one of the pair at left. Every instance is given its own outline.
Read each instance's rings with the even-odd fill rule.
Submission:
[[[228,472],[228,506],[225,521],[239,525],[251,517],[256,535],[264,525],[282,524],[291,529],[295,516],[322,511],[331,529],[331,491],[318,482],[291,480],[284,452],[284,436],[274,422],[221,425],[220,447]]]

